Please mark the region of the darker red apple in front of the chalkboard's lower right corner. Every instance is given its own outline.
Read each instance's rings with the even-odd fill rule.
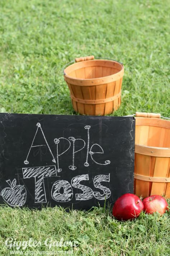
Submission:
[[[131,220],[143,211],[143,203],[134,194],[124,194],[115,201],[112,214],[118,220]]]

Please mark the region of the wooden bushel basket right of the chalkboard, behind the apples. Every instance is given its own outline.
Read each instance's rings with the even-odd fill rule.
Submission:
[[[136,113],[134,193],[143,198],[170,198],[170,121],[160,117]]]

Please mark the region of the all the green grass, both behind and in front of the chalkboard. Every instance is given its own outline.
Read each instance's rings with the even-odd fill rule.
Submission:
[[[1,0],[0,112],[75,114],[62,67],[94,54],[124,64],[122,103],[112,115],[170,117],[169,13],[165,0]],[[5,207],[0,226],[0,255],[9,255],[8,237],[78,241],[75,255],[170,255],[169,213],[121,223],[101,208]]]

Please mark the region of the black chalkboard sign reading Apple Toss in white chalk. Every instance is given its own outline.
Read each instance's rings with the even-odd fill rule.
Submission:
[[[133,117],[0,113],[0,204],[90,209],[133,193]]]

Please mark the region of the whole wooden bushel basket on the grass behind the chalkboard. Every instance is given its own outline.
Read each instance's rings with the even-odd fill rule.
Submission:
[[[63,71],[75,111],[103,116],[116,110],[121,104],[123,64],[94,56],[76,58],[75,62]]]

